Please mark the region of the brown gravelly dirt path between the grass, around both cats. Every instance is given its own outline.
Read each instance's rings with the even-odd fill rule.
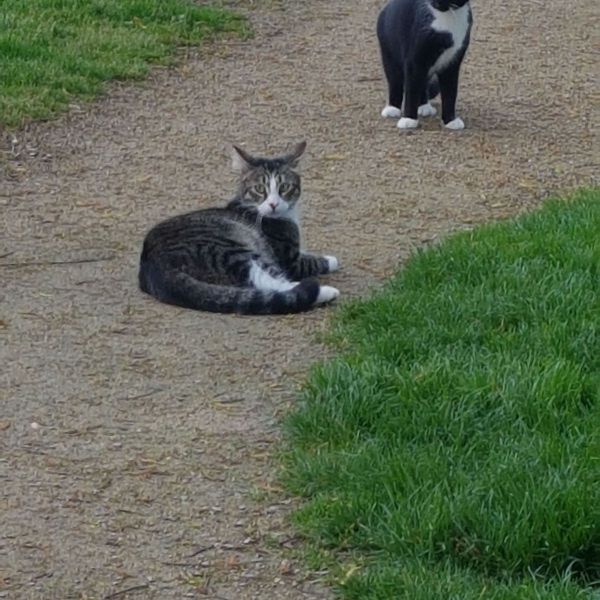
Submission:
[[[381,4],[259,3],[254,40],[17,134],[0,162],[0,598],[329,597],[282,565],[271,452],[334,309],[160,305],[136,288],[145,230],[227,199],[230,142],[306,138],[307,245],[341,259],[349,298],[415,247],[589,183],[599,148],[595,0],[475,2],[468,129],[408,135],[379,118]]]

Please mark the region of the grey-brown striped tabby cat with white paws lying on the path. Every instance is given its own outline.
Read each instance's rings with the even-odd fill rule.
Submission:
[[[337,298],[337,289],[315,279],[337,270],[337,259],[300,249],[295,167],[305,148],[256,158],[234,146],[237,195],[223,208],[179,215],[148,232],[142,291],[167,304],[242,314],[301,312]]]

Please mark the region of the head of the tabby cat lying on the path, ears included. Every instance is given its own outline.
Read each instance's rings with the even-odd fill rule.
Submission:
[[[240,197],[255,204],[261,215],[294,218],[300,198],[300,175],[294,167],[305,146],[299,144],[292,154],[276,159],[254,158],[235,148],[242,161],[236,165],[241,170]]]

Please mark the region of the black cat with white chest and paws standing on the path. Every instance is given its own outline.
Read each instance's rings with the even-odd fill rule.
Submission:
[[[464,129],[455,114],[460,66],[469,46],[469,0],[390,0],[379,14],[377,36],[388,81],[383,117],[414,129],[418,117],[436,114],[429,100],[442,95],[442,121]]]

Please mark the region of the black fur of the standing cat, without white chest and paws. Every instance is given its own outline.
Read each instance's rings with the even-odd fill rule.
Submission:
[[[447,12],[467,5],[468,29],[462,46],[450,63],[437,69],[436,61],[453,44],[452,35],[433,29],[431,6]],[[456,13],[455,13],[456,14]],[[442,95],[442,120],[456,118],[460,66],[469,46],[473,16],[468,0],[390,0],[379,14],[377,36],[388,81],[389,105],[403,116],[418,118],[419,106]]]

